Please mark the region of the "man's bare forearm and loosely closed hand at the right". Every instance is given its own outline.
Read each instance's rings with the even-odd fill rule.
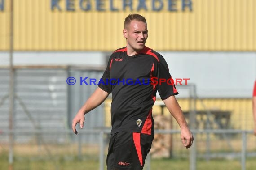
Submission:
[[[175,96],[170,96],[169,98],[163,100],[163,102],[181,127],[181,141],[184,147],[190,148],[190,146],[193,144],[194,138],[192,133],[190,132],[181,107],[177,102]]]

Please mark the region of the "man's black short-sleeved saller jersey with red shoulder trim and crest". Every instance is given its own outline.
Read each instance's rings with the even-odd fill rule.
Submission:
[[[127,48],[113,52],[98,86],[112,93],[111,134],[116,132],[154,133],[152,106],[158,91],[162,100],[178,94],[173,83],[155,83],[171,78],[163,56],[148,47],[128,56]],[[158,81],[157,80],[157,81]],[[156,85],[157,84],[157,85]]]

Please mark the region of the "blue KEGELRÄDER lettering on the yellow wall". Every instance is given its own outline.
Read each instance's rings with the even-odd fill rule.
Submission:
[[[62,1],[66,3],[61,3]],[[78,7],[76,7],[77,1],[79,1]],[[109,3],[108,6],[106,5],[106,1],[108,1]],[[120,1],[123,2],[122,7],[117,6],[117,3]],[[135,1],[138,2],[138,4],[136,4],[136,7],[134,7],[133,4],[133,2]],[[133,11],[133,8],[136,8],[137,11],[141,9],[148,11],[148,9],[151,9],[152,11],[168,10],[172,12],[177,12],[178,10],[192,11],[192,5],[192,0],[51,0],[51,9],[57,9],[59,11],[61,11],[62,9],[66,9],[66,11],[76,11],[78,10],[77,8],[83,11]],[[4,0],[0,0],[0,10],[4,10]]]

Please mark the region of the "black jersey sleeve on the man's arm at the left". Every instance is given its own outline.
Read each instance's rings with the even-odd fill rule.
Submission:
[[[113,57],[110,56],[106,70],[103,73],[102,78],[100,79],[100,81],[98,83],[98,87],[101,88],[102,90],[106,91],[107,93],[111,93],[111,91],[112,91],[111,84],[109,83],[110,68],[111,68],[112,60],[113,60]]]

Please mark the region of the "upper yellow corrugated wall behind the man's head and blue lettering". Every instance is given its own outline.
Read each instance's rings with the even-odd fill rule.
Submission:
[[[102,8],[80,9],[74,0],[74,11],[67,11],[66,2],[59,0],[51,10],[52,0],[14,0],[14,49],[18,51],[113,51],[125,46],[122,35],[124,18],[129,13],[140,13],[148,21],[147,46],[163,51],[256,51],[255,0],[192,0],[192,11],[182,10],[177,0],[177,11],[168,11],[168,0],[163,9],[152,11],[152,0],[146,0],[148,11],[137,11],[137,0],[132,0],[133,11],[124,11],[122,0],[114,0],[119,11],[110,11],[110,0],[101,0]],[[85,5],[85,4],[84,4]],[[72,5],[71,5],[72,6]],[[9,49],[9,1],[0,12],[0,50]]]

